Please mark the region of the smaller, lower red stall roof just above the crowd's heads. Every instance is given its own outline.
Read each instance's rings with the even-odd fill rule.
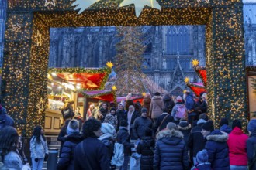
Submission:
[[[78,97],[95,98],[103,101],[116,102],[116,93],[114,90],[83,91],[78,94]]]

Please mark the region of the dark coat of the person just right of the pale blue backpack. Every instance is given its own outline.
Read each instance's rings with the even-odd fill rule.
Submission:
[[[131,155],[130,148],[132,148],[134,145],[130,143],[130,135],[128,134],[128,130],[126,128],[119,128],[119,131],[116,134],[116,142],[123,144],[124,155]]]

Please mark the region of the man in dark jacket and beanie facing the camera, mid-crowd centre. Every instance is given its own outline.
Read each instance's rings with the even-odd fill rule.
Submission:
[[[145,136],[147,128],[152,128],[152,121],[147,117],[147,109],[141,109],[141,117],[137,117],[133,124],[133,136],[137,139],[142,139]]]

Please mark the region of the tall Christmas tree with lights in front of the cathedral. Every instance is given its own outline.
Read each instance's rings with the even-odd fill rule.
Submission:
[[[141,94],[145,92],[142,73],[145,46],[142,45],[140,27],[119,27],[117,36],[121,41],[116,44],[116,94]]]

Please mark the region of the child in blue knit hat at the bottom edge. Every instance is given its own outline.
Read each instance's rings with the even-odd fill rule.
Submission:
[[[195,165],[191,170],[211,170],[211,163],[208,162],[208,154],[206,149],[199,151],[196,155],[196,162]]]

